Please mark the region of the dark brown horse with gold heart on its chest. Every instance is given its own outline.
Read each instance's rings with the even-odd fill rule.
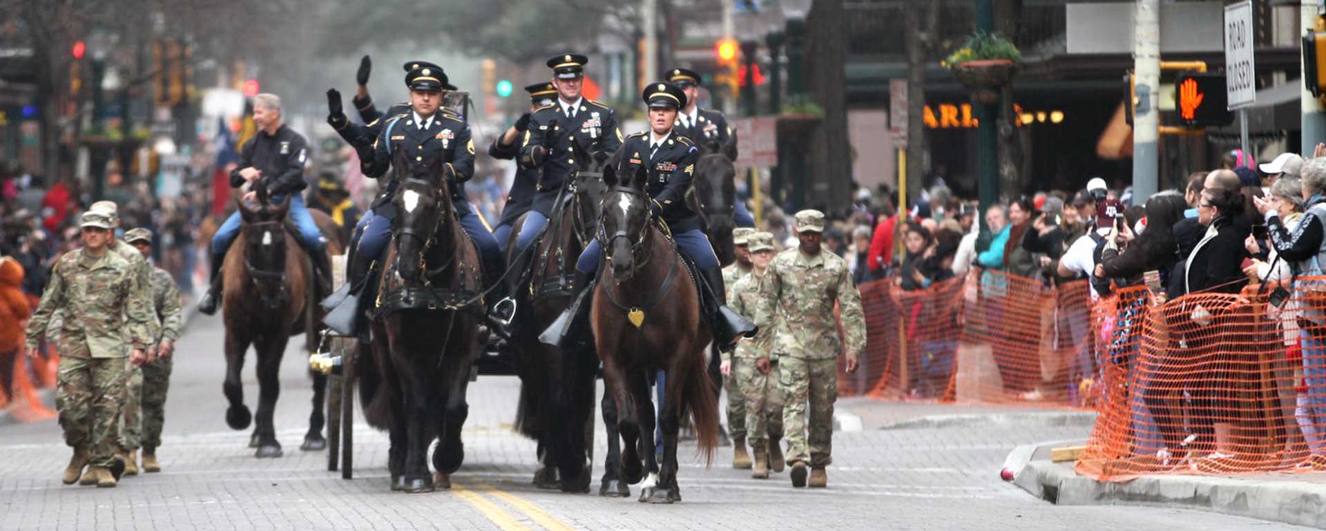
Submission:
[[[629,183],[618,183],[611,169],[603,180],[609,185],[599,218],[605,260],[590,326],[603,362],[603,381],[617,405],[623,440],[621,473],[633,485],[648,474],[640,502],[679,502],[676,438],[683,416],[695,420],[699,449],[709,462],[717,446],[717,404],[704,372],[704,346],[712,332],[700,311],[696,281],[650,215],[644,167]],[[655,371],[667,373],[662,466],[654,456],[648,383]]]

